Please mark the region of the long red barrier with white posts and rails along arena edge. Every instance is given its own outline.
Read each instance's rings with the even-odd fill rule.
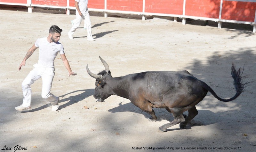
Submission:
[[[47,7],[75,10],[75,0],[0,0],[4,5],[23,5],[32,12],[32,7]],[[212,20],[218,22],[241,23],[253,25],[256,31],[256,0],[89,0],[89,11],[101,11],[108,17],[108,13],[138,14],[145,20],[145,15],[170,16]]]

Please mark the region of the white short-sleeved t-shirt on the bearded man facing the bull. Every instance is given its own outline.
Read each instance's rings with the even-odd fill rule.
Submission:
[[[38,64],[44,68],[53,68],[54,60],[57,54],[64,54],[64,48],[60,42],[47,41],[47,38],[39,38],[35,43],[36,47],[39,47],[39,59]]]

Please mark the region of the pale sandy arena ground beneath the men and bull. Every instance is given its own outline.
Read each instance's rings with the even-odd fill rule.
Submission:
[[[74,13],[0,10],[1,152],[17,148],[26,149],[16,152],[255,151],[256,34],[251,25],[223,23],[218,29],[213,22],[204,26],[205,22],[190,20],[182,25],[168,18],[142,21],[141,16],[104,18],[102,13],[90,13],[95,41],[86,40],[82,25],[73,40],[68,38]],[[39,49],[19,71],[20,62],[37,38],[48,36],[51,25],[63,29],[60,42],[77,76],[68,77],[58,55],[52,93],[60,97],[60,109],[52,112],[50,104],[42,99],[39,79],[31,86],[32,109],[16,111],[14,108],[22,104],[21,83],[37,62]],[[158,128],[173,120],[165,109],[154,108],[158,120],[152,122],[149,114],[128,99],[113,95],[105,102],[96,102],[95,79],[87,74],[86,64],[93,73],[103,70],[99,55],[108,62],[114,77],[150,70],[188,70],[221,98],[235,94],[232,62],[237,69],[244,67],[244,75],[248,75],[245,82],[253,83],[228,103],[208,93],[196,106],[199,114],[186,130],[175,125],[162,133]],[[132,149],[135,147],[142,149]],[[197,150],[187,149],[194,147]]]

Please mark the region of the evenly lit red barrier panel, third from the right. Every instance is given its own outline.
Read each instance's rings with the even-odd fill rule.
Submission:
[[[183,0],[146,0],[145,12],[182,15]]]

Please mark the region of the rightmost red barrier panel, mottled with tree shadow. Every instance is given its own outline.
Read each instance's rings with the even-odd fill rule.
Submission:
[[[254,22],[256,3],[223,1],[221,19]]]

